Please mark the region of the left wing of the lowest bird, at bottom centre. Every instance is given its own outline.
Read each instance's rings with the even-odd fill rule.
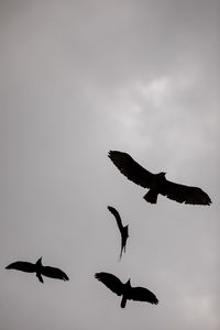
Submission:
[[[123,293],[123,283],[114,275],[110,273],[96,273],[95,277],[102,282],[110,290],[112,290],[118,296],[121,296]]]

